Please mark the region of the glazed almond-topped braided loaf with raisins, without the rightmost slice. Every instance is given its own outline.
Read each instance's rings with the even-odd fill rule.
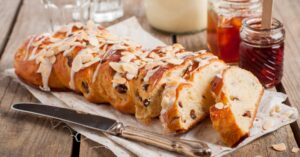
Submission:
[[[144,122],[160,116],[173,132],[185,132],[209,115],[216,100],[210,82],[228,68],[211,53],[187,51],[180,44],[144,50],[92,22],[30,37],[14,66],[34,87],[75,91]]]

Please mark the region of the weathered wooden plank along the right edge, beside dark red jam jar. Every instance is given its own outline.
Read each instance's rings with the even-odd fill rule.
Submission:
[[[290,104],[300,111],[300,2],[298,0],[274,2],[274,16],[283,23],[286,30],[282,84],[289,96]],[[297,120],[297,125],[300,132],[300,118]]]

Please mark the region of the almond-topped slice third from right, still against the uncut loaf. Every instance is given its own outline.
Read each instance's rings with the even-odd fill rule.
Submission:
[[[176,45],[173,45],[171,49],[175,48]],[[162,52],[161,48],[153,50],[151,53],[156,53],[161,58],[168,56],[167,53]],[[137,119],[148,123],[152,118],[158,117],[162,109],[162,93],[166,84],[174,80],[181,80],[187,74],[188,70],[192,68],[191,64],[197,58],[215,57],[211,53],[196,53],[185,50],[178,51],[176,55],[183,55],[184,53],[192,53],[193,55],[185,57],[180,64],[172,64],[167,61],[167,64],[154,67],[150,70],[147,68],[141,69],[134,83],[136,89],[133,94],[135,95],[135,116]]]

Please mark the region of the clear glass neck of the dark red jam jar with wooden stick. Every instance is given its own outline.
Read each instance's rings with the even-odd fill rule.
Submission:
[[[261,18],[247,18],[243,20],[240,37],[251,45],[272,46],[284,41],[285,30],[277,19],[272,19],[271,28],[263,29]]]

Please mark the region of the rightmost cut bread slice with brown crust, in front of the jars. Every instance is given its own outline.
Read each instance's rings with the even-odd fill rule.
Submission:
[[[213,127],[226,145],[236,146],[249,136],[264,88],[252,73],[239,67],[224,70],[211,86],[217,101],[210,108]]]

